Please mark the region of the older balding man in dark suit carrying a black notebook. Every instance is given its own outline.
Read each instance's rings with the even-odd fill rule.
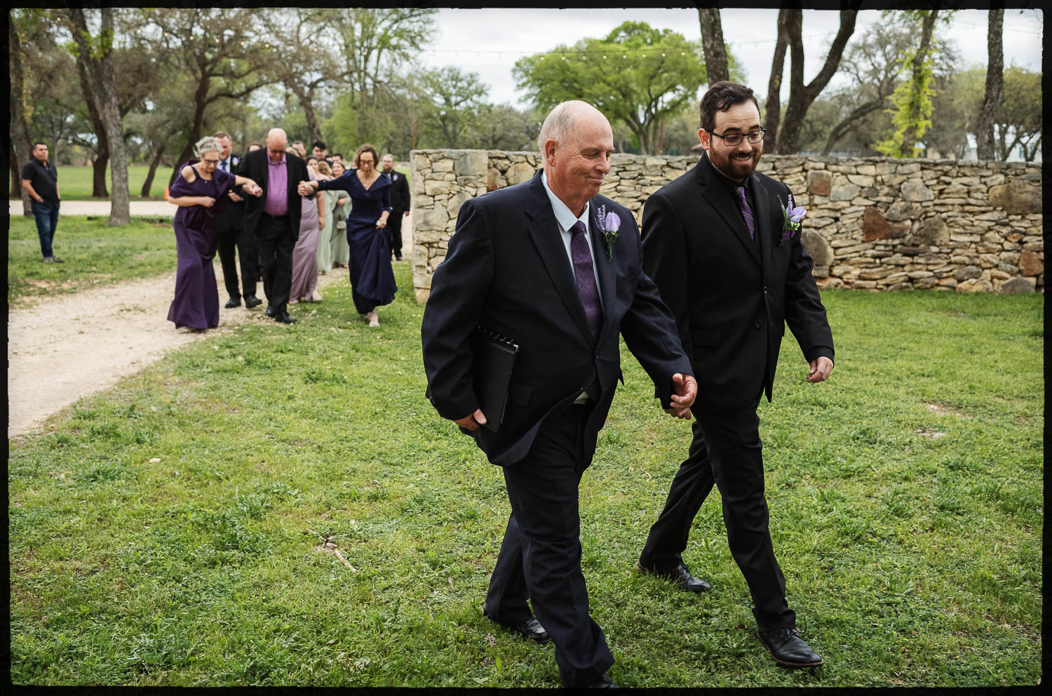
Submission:
[[[564,102],[538,143],[544,170],[532,180],[461,206],[424,310],[424,369],[439,414],[503,468],[511,516],[486,616],[550,637],[564,685],[610,687],[613,657],[581,572],[578,485],[622,378],[619,333],[669,413],[690,417],[696,384],[642,271],[631,213],[598,195],[610,171],[609,122],[585,102]],[[477,326],[520,346],[497,432],[480,430],[497,414],[482,413],[485,386],[472,380]]]

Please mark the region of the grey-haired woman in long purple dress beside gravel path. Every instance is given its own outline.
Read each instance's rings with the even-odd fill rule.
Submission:
[[[219,140],[203,138],[195,145],[200,159],[183,165],[168,190],[168,202],[176,211],[176,297],[168,307],[168,321],[176,329],[194,331],[219,325],[219,293],[211,259],[216,256],[215,215],[226,204],[226,194],[235,184],[261,196],[263,190],[245,177],[217,170],[222,150]]]

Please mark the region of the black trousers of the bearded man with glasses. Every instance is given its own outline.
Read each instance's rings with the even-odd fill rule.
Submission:
[[[749,585],[756,625],[771,631],[795,625],[796,615],[786,603],[786,580],[768,529],[757,405],[758,397],[737,411],[692,411],[696,420],[687,459],[650,528],[640,563],[667,568],[683,560],[690,525],[715,483],[723,497],[727,545]]]

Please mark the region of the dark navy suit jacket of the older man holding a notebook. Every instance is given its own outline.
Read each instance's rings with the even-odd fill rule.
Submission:
[[[611,261],[595,221],[599,205],[622,220]],[[603,196],[591,200],[590,211],[603,303],[596,340],[540,173],[526,183],[466,201],[446,259],[431,278],[421,336],[431,403],[440,415],[457,419],[479,407],[469,344],[477,325],[520,344],[501,430],[473,434],[494,464],[522,459],[544,418],[593,380],[599,398],[586,425],[585,451],[589,456],[594,452],[615,383],[623,379],[619,333],[654,380],[664,405],[672,393],[672,375],[691,374],[672,316],[643,272],[631,213]]]

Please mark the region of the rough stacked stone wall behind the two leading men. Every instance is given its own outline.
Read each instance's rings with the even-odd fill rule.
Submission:
[[[461,204],[528,180],[540,157],[418,150],[410,160],[412,279],[423,302]],[[639,222],[647,197],[696,161],[614,155],[602,193]],[[760,171],[807,207],[803,240],[820,287],[1045,292],[1039,164],[768,155]]]

